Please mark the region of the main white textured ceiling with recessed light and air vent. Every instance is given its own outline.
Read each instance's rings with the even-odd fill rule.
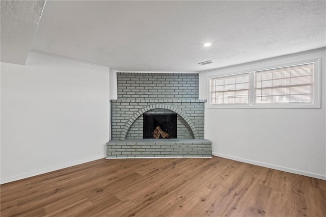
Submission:
[[[325,3],[47,1],[32,49],[116,70],[202,71],[326,46]]]

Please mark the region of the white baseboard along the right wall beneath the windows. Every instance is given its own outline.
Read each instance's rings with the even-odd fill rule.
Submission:
[[[299,175],[304,175],[304,176],[309,176],[309,177],[313,177],[313,178],[317,178],[317,179],[326,180],[326,176],[321,175],[321,174],[310,173],[310,172],[306,172],[306,171],[302,171],[302,170],[296,170],[296,169],[282,167],[282,166],[273,165],[273,164],[267,164],[267,163],[256,161],[256,160],[249,160],[249,159],[235,157],[235,156],[231,156],[231,155],[227,155],[227,154],[221,154],[221,153],[217,153],[217,152],[212,152],[212,155],[227,158],[227,159],[232,159],[232,160],[236,160],[236,161],[240,161],[240,162],[245,162],[248,164],[253,164],[253,165],[257,165],[257,166],[261,166],[261,167],[266,167],[266,168],[270,168],[270,169],[275,169],[275,170],[280,170],[280,171],[284,171],[284,172],[289,172],[289,173],[294,173],[294,174],[299,174]]]

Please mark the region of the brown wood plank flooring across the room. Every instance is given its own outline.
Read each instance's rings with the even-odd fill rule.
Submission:
[[[1,185],[1,216],[326,216],[326,181],[221,157],[100,159]]]

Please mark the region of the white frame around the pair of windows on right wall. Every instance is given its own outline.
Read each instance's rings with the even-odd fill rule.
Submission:
[[[271,70],[271,69],[278,69],[278,68],[285,68],[297,65],[303,65],[308,63],[314,63],[314,99],[313,103],[310,102],[302,102],[302,103],[255,103],[255,90],[256,90],[256,72],[264,71],[264,70]],[[227,76],[236,76],[241,74],[249,73],[249,103],[248,104],[212,104],[211,103],[211,79],[213,78],[220,78],[220,77],[227,77]],[[207,100],[207,108],[320,108],[320,99],[321,99],[321,58],[312,59],[312,60],[305,60],[300,62],[292,62],[282,65],[275,65],[266,68],[257,68],[255,70],[247,70],[241,71],[237,73],[224,73],[220,75],[213,75],[209,76],[207,79],[207,89],[208,89],[208,100]]]

